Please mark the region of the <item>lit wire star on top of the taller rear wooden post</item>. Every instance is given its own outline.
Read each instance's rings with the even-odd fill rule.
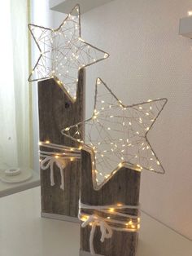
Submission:
[[[34,24],[28,24],[28,29],[41,52],[28,81],[55,78],[72,102],[75,102],[79,70],[109,56],[107,52],[81,38],[79,5],[72,9],[58,29]]]

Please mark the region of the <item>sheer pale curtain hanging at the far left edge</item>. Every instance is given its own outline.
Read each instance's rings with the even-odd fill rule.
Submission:
[[[32,148],[28,1],[3,1],[0,24],[0,168],[28,167]]]

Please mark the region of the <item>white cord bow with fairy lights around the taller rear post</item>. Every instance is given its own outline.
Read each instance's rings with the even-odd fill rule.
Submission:
[[[50,186],[53,187],[55,186],[54,170],[55,166],[57,166],[61,175],[60,188],[64,190],[64,170],[69,162],[81,159],[81,148],[70,148],[50,143],[48,140],[46,142],[40,142],[39,145],[41,148],[45,148],[44,150],[39,151],[41,157],[41,170],[50,169]]]

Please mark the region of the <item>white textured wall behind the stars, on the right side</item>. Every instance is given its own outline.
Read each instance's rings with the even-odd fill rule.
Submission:
[[[192,239],[192,41],[178,36],[190,0],[116,0],[82,16],[82,38],[111,54],[87,68],[87,115],[96,77],[124,101],[168,98],[149,135],[166,174],[142,172],[142,210]],[[64,15],[55,15],[55,26]],[[88,113],[89,111],[89,113]]]

